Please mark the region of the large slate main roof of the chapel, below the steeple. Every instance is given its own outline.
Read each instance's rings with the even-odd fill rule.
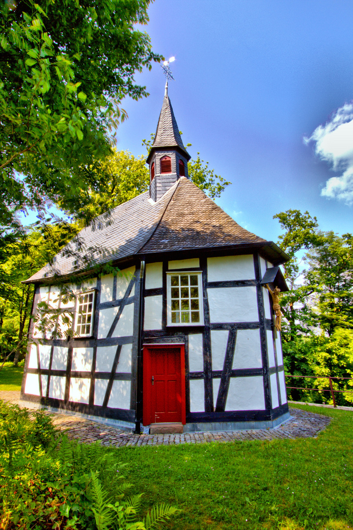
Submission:
[[[277,245],[242,228],[186,177],[181,177],[157,202],[149,199],[146,191],[114,208],[108,226],[103,216],[95,225],[99,222],[101,228],[93,230],[89,226],[78,234],[86,250],[109,250],[109,254],[94,254],[98,265],[136,254],[248,244],[266,247],[266,252],[271,250],[275,264],[286,261],[286,254]],[[66,248],[74,249],[73,243]],[[84,257],[84,252],[81,255]],[[55,271],[46,265],[26,282],[49,279],[55,274],[68,276],[84,269],[83,265],[77,268],[74,261],[72,255],[67,257],[60,251],[55,258]]]

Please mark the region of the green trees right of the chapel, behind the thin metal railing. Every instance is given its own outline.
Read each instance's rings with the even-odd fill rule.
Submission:
[[[306,211],[275,216],[283,228],[279,246],[289,255],[285,276],[289,293],[281,296],[285,366],[292,375],[353,376],[353,237],[322,232]],[[291,379],[289,386],[328,388],[327,379]],[[305,383],[304,383],[305,382]],[[303,384],[304,383],[304,384]],[[334,381],[336,390],[353,381]],[[330,394],[292,390],[292,398],[329,401]],[[340,404],[353,394],[336,394]]]

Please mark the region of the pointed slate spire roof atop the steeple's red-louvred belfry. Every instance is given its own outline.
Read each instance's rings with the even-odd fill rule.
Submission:
[[[154,142],[152,144],[151,151],[149,152],[149,155],[147,157],[147,163],[149,163],[149,160],[152,157],[154,147],[179,147],[179,149],[181,149],[181,151],[187,157],[187,160],[190,160],[191,158],[186,148],[184,147],[183,141],[179,133],[177,120],[174,116],[172,104],[167,94],[163,98],[160,119],[158,120],[156,134],[154,137]]]

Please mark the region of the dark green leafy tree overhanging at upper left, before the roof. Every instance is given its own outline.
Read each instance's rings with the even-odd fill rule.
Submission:
[[[22,0],[1,7],[0,223],[61,204],[92,183],[110,153],[122,99],[147,95],[134,73],[161,56],[136,23],[149,0]],[[10,5],[10,7],[9,7]],[[22,176],[19,176],[21,173]]]

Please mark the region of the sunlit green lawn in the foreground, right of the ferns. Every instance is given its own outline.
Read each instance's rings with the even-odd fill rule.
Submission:
[[[353,526],[353,413],[317,438],[110,449],[129,464],[144,502],[182,514],[173,530],[343,530]]]

